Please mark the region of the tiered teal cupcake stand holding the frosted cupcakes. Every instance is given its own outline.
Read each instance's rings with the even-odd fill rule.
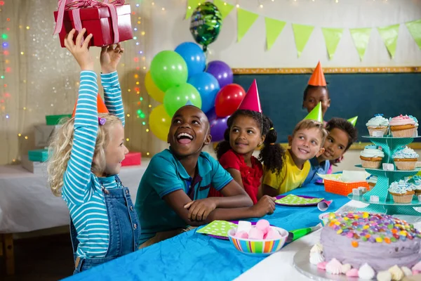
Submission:
[[[398,148],[400,148],[401,146],[408,145],[409,143],[413,142],[413,138],[394,138],[392,136],[363,136],[363,138],[370,138],[370,141],[372,143],[382,147],[382,151],[385,153],[385,157],[382,160],[382,164],[394,164],[394,160],[392,158],[394,152],[396,152],[396,150],[398,150]],[[361,164],[355,166],[363,168]],[[414,209],[414,207],[421,207],[421,202],[418,201],[417,197],[414,196],[412,202],[410,203],[395,203],[392,198],[392,195],[390,195],[388,191],[389,185],[391,183],[393,183],[394,181],[402,180],[408,176],[415,176],[415,174],[417,174],[417,172],[420,171],[420,168],[415,168],[415,170],[413,171],[400,171],[397,170],[396,167],[394,167],[393,171],[387,171],[383,170],[382,166],[380,166],[380,169],[363,169],[366,169],[368,173],[377,176],[377,183],[375,187],[361,196],[352,195],[352,193],[348,195],[348,198],[351,200],[356,200],[370,204],[368,207],[364,208],[363,211],[368,211],[372,213],[385,213],[390,215],[421,215],[421,212]],[[371,195],[377,195],[379,197],[379,202],[371,202]]]

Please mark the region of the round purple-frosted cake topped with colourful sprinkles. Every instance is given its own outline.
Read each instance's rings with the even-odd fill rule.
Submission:
[[[412,268],[421,260],[420,238],[420,232],[406,221],[365,212],[330,214],[321,230],[326,261],[335,258],[354,268],[368,263],[377,272],[395,265]]]

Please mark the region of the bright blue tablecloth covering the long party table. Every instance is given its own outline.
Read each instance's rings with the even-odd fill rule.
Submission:
[[[333,200],[328,211],[349,202],[347,197],[325,192],[323,185],[309,185],[289,193]],[[316,226],[319,214],[317,207],[276,206],[274,214],[265,219],[273,226],[294,230]],[[262,259],[242,254],[228,240],[191,230],[66,280],[233,280]]]

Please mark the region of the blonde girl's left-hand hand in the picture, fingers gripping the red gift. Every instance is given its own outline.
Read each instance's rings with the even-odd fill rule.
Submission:
[[[76,44],[73,43],[73,37],[76,30],[71,30],[67,37],[65,38],[65,47],[69,50],[70,53],[76,59],[76,62],[81,67],[81,70],[93,70],[93,58],[91,53],[89,53],[89,41],[91,41],[92,34],[89,34],[86,39],[81,44],[83,34],[85,34],[86,29],[83,28],[81,32],[76,37]]]

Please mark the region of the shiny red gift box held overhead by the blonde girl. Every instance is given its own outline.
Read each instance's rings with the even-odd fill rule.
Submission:
[[[98,4],[99,2],[96,3]],[[115,8],[116,23],[113,22],[112,11],[109,6],[79,8],[77,9],[79,11],[76,15],[74,10],[65,10],[62,16],[62,27],[59,33],[61,46],[63,48],[65,47],[64,39],[72,28],[81,30],[84,27],[86,28],[86,36],[91,33],[93,34],[89,46],[108,46],[117,42],[133,39],[130,5],[120,5],[115,6]],[[56,22],[59,13],[60,11],[54,12]],[[80,21],[78,18],[80,18]],[[59,22],[57,22],[56,25],[60,27]],[[114,32],[114,26],[117,27],[116,32]],[[58,30],[55,31],[55,33],[57,32]],[[118,39],[117,41],[115,40],[116,37]],[[76,36],[74,36],[74,40],[76,40]]]

